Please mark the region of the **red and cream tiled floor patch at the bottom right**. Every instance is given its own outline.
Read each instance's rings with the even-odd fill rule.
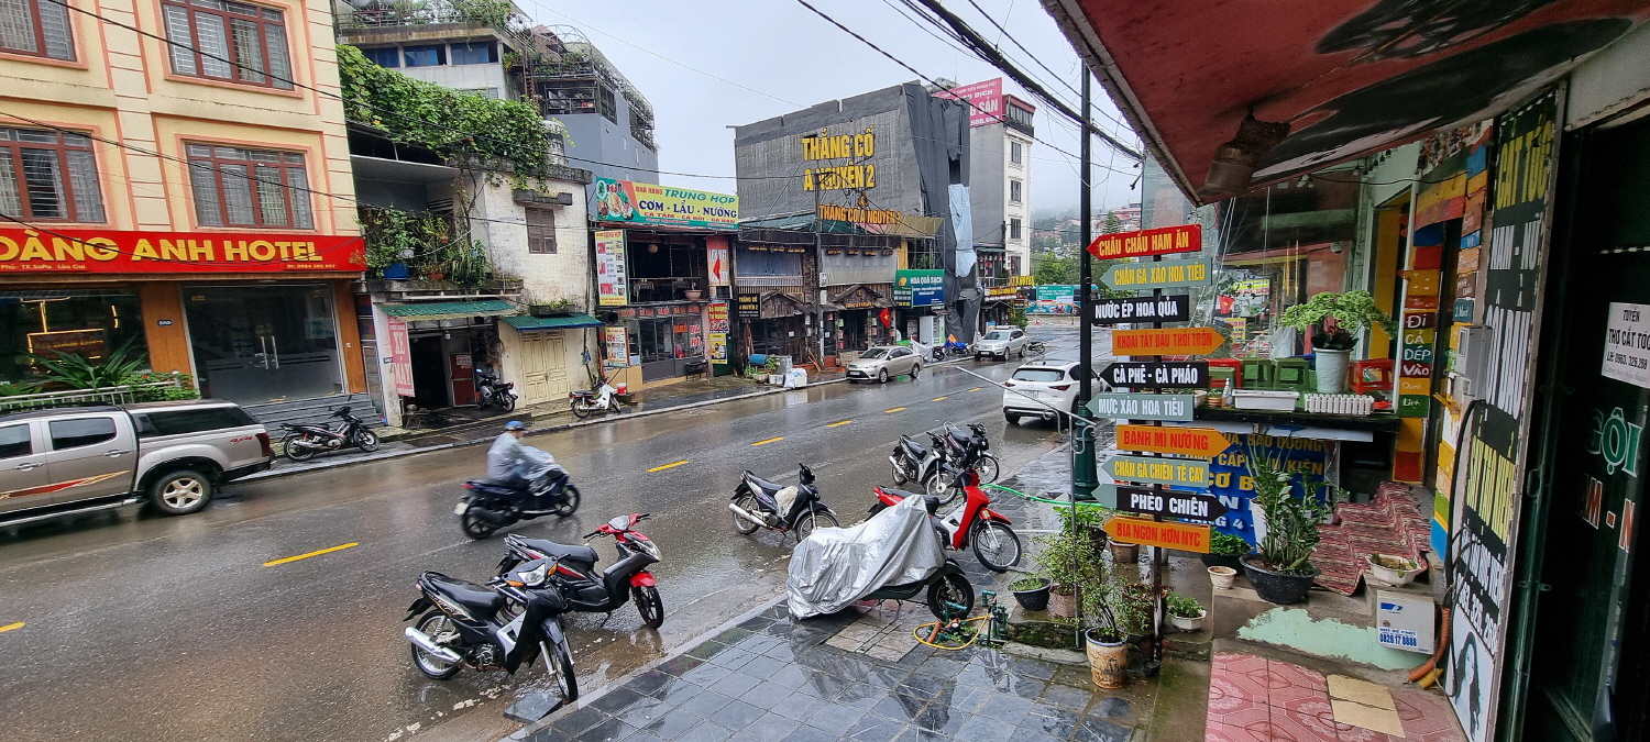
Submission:
[[[1332,681],[1336,688],[1330,688]],[[1465,742],[1449,701],[1429,691],[1386,691],[1256,655],[1216,653],[1206,742]],[[1346,691],[1350,689],[1350,691]],[[1333,691],[1333,693],[1332,693]],[[1343,701],[1348,699],[1348,701]],[[1358,702],[1361,701],[1361,702]],[[1343,724],[1386,716],[1402,734]]]

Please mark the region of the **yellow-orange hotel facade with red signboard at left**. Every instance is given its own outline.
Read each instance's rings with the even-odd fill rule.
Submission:
[[[243,404],[365,389],[330,3],[64,3],[0,0],[0,381],[130,343]]]

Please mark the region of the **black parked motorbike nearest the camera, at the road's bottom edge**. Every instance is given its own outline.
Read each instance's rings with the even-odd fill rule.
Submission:
[[[485,585],[441,572],[419,575],[419,597],[403,618],[424,613],[403,630],[412,645],[412,665],[434,679],[447,679],[462,668],[515,674],[543,656],[563,697],[578,701],[579,681],[561,625],[568,602],[549,579],[554,569],[554,559],[535,559]]]

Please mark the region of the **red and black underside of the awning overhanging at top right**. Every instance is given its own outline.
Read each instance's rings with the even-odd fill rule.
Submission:
[[[1196,203],[1488,119],[1650,16],[1650,0],[1044,7]],[[1249,114],[1287,124],[1287,137],[1272,147],[1251,125],[1239,139]],[[1239,168],[1221,178],[1233,188],[1204,190],[1223,145],[1224,162],[1249,155],[1252,175]]]

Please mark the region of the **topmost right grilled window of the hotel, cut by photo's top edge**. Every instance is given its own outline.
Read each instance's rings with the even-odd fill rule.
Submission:
[[[226,0],[188,0],[186,5],[167,0],[160,8],[167,38],[173,41],[173,73],[292,89],[292,58],[279,10]]]

